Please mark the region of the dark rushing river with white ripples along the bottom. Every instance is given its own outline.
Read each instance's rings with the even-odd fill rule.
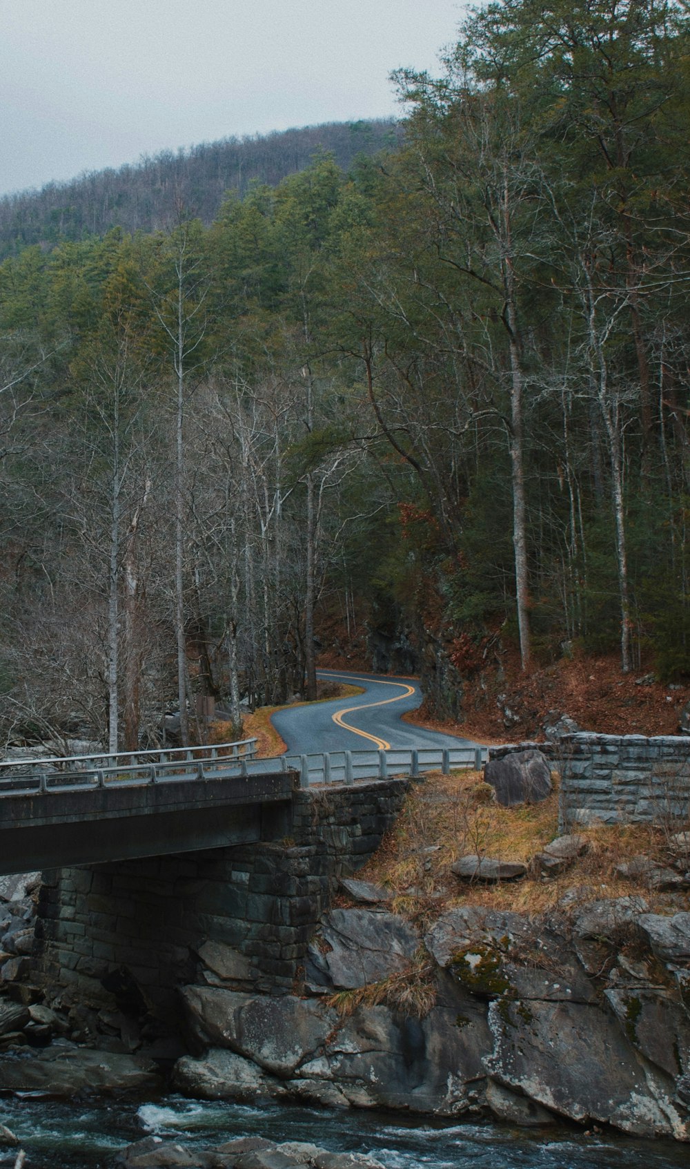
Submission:
[[[27,1169],[111,1169],[119,1148],[149,1133],[196,1147],[250,1135],[311,1141],[334,1151],[368,1153],[390,1169],[688,1169],[688,1146],[669,1141],[175,1095],[140,1106],[12,1097],[0,1102],[0,1120],[20,1137]]]

